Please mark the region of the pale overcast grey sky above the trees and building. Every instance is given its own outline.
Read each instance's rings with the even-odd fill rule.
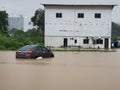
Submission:
[[[39,8],[44,8],[43,3],[65,4],[117,4],[112,12],[112,21],[120,23],[120,0],[0,0],[0,10],[6,10],[10,17],[23,15],[24,29],[32,28],[30,18]]]

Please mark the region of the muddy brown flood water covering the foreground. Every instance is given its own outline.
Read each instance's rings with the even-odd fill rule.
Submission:
[[[0,90],[120,90],[120,49],[54,54],[16,59],[14,51],[0,51]]]

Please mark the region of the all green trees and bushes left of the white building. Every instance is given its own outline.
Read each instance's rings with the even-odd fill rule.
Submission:
[[[8,14],[0,11],[0,50],[16,50],[24,45],[39,44],[44,42],[44,10],[37,10],[32,18],[38,29],[23,30],[12,29],[8,31]]]

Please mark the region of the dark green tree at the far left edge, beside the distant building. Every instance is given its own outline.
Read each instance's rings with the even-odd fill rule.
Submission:
[[[6,11],[0,11],[0,33],[7,35],[8,27],[8,14]]]

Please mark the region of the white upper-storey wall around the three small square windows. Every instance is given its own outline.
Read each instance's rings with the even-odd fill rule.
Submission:
[[[56,18],[56,13],[62,13],[63,17]],[[77,18],[77,13],[84,13],[84,18]],[[95,19],[95,13],[101,13],[101,18]],[[45,12],[45,35],[111,36],[111,8],[47,7]]]

